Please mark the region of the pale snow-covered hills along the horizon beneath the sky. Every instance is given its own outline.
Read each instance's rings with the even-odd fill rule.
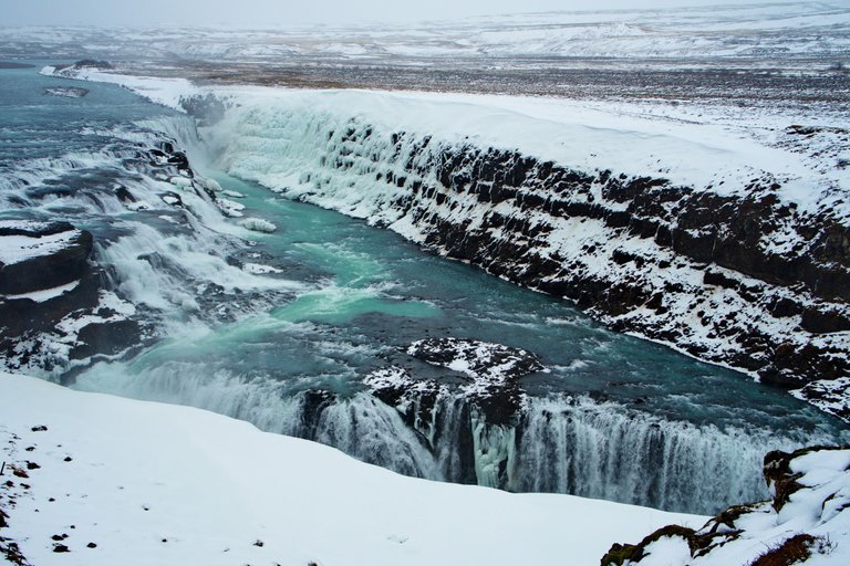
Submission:
[[[850,6],[792,2],[496,15],[344,28],[0,28],[0,56],[155,57],[292,63],[569,57],[850,59]]]

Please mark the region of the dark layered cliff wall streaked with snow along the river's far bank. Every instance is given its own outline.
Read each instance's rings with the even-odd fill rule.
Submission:
[[[850,375],[850,222],[831,206],[798,209],[769,174],[696,188],[354,119],[317,135],[319,167],[277,190],[574,301],[616,331],[777,386],[817,382],[797,395],[831,396],[821,408],[850,419],[844,388],[830,387]]]

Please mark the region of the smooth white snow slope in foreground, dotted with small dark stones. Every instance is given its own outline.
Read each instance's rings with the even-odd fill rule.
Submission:
[[[595,565],[616,541],[705,520],[415,480],[207,411],[17,375],[0,375],[0,549],[37,565]]]

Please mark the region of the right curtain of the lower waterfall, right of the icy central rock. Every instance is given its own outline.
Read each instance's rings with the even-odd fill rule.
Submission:
[[[588,398],[533,399],[521,428],[514,490],[692,513],[767,499],[765,453],[818,441],[671,421]],[[827,434],[821,440],[835,441]]]

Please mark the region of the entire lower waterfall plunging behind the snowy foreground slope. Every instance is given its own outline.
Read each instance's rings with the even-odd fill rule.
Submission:
[[[826,432],[821,438],[696,426],[584,397],[529,399],[521,421],[511,427],[487,423],[474,406],[445,396],[428,419],[415,421],[412,412],[366,392],[304,390],[303,384],[270,375],[160,357],[169,356],[100,364],[80,376],[77,387],[200,407],[403,474],[515,492],[570,493],[711,514],[767,497],[760,473],[766,452],[835,442]]]

